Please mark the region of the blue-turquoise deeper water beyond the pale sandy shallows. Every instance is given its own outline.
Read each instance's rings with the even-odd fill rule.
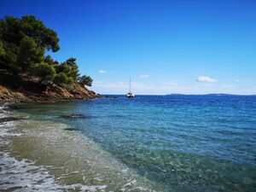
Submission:
[[[11,108],[69,125],[156,190],[256,191],[256,96],[117,96]]]

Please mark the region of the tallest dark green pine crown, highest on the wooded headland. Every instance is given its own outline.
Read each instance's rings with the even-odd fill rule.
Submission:
[[[15,70],[26,70],[29,67],[26,64],[43,61],[42,55],[46,49],[53,52],[60,49],[56,32],[32,15],[25,15],[21,19],[5,16],[0,20],[0,41],[5,50],[5,54],[0,55],[0,61]],[[29,49],[26,50],[27,48]],[[26,58],[29,54],[35,55]]]

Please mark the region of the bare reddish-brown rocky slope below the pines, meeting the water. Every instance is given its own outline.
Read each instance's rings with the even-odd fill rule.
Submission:
[[[6,70],[0,71],[0,102],[55,102],[97,97],[100,95],[78,83],[73,83],[70,88],[38,84],[26,75],[16,76]]]

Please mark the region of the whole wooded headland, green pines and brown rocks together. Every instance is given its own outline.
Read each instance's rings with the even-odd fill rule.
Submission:
[[[57,33],[35,16],[0,20],[0,102],[45,102],[99,97],[93,79],[79,74],[76,59],[55,61]]]

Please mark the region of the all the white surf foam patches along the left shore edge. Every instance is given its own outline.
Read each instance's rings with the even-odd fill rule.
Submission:
[[[0,106],[0,118],[10,118],[7,106]],[[19,120],[18,120],[19,121]],[[0,124],[0,147],[9,146],[10,137],[20,137],[23,134],[15,132],[18,123],[9,120]],[[104,191],[107,185],[84,185],[80,183],[61,185],[55,182],[55,177],[49,174],[50,166],[36,166],[32,160],[17,160],[8,150],[0,151],[0,191]]]

